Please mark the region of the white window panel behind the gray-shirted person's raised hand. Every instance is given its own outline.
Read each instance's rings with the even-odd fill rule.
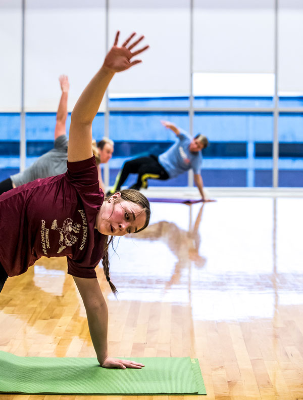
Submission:
[[[71,111],[105,57],[105,0],[27,0],[25,23],[26,111],[57,111],[61,74]]]

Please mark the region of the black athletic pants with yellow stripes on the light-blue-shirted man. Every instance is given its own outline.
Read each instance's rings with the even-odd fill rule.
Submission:
[[[131,189],[139,190],[147,188],[147,179],[169,179],[169,175],[161,164],[158,162],[158,157],[150,155],[149,157],[139,157],[134,160],[126,161],[122,171],[119,172],[114,187],[111,192],[117,192],[127,180],[130,173],[137,173],[138,179]]]

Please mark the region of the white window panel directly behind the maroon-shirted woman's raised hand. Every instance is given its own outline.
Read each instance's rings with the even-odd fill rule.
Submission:
[[[110,0],[110,45],[118,29],[123,38],[144,34],[150,49],[141,65],[115,76],[111,94],[188,95],[188,0]]]

